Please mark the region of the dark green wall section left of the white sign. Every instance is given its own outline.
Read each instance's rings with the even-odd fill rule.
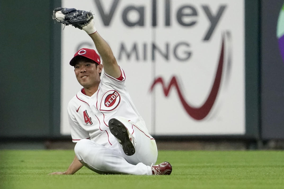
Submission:
[[[48,0],[0,3],[0,137],[59,134],[60,27],[51,12],[60,5]]]

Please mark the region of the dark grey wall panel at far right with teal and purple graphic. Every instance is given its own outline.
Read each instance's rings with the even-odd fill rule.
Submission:
[[[261,136],[284,138],[284,1],[261,1]]]

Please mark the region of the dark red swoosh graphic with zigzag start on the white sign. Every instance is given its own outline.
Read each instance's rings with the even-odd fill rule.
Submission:
[[[214,80],[211,92],[210,92],[207,100],[205,101],[205,103],[201,107],[195,108],[195,107],[192,107],[192,106],[187,104],[187,102],[185,101],[185,98],[181,94],[181,90],[179,88],[176,77],[172,77],[172,80],[170,81],[170,84],[169,84],[168,87],[165,86],[163,78],[158,77],[154,80],[150,90],[152,91],[156,84],[161,83],[165,96],[168,96],[170,89],[173,86],[175,86],[176,90],[178,92],[179,100],[181,101],[181,104],[183,105],[183,108],[185,109],[187,114],[189,114],[193,119],[202,120],[203,118],[205,118],[208,115],[208,113],[212,109],[212,106],[213,106],[213,104],[216,100],[218,90],[219,90],[219,87],[220,87],[220,83],[221,83],[223,64],[224,64],[224,37],[222,39],[222,48],[221,48],[221,52],[220,52],[219,64],[218,64],[218,68],[217,68],[217,71],[216,71],[215,80]]]

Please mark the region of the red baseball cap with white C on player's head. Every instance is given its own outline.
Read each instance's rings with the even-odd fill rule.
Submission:
[[[69,64],[71,66],[74,66],[77,63],[77,59],[79,58],[79,56],[84,56],[86,58],[89,58],[89,59],[95,61],[98,64],[101,64],[100,56],[96,53],[95,50],[89,49],[89,48],[82,48],[82,49],[78,50],[78,52],[76,52],[74,54],[74,57],[70,60]]]

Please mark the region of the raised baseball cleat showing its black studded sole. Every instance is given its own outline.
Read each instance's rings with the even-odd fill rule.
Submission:
[[[124,124],[112,118],[108,122],[108,127],[112,135],[114,135],[121,144],[124,153],[128,156],[132,156],[135,153],[135,140]]]

